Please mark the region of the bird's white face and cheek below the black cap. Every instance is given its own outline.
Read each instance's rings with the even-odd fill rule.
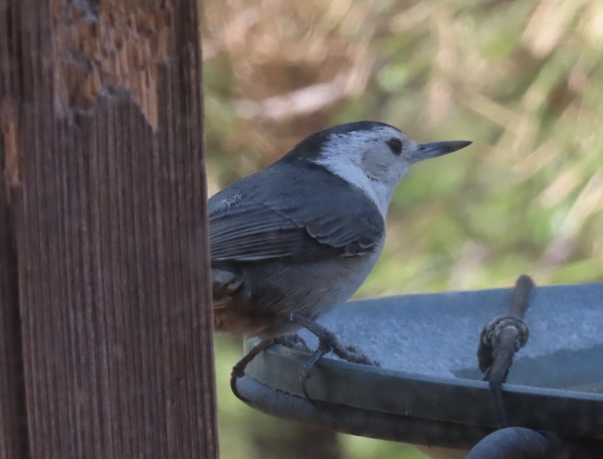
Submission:
[[[315,163],[364,190],[385,217],[416,150],[417,143],[396,128],[375,126],[370,131],[331,134]]]

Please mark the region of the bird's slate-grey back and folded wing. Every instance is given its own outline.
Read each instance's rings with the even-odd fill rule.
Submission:
[[[382,240],[383,218],[361,190],[314,164],[312,174],[281,166],[210,198],[212,263],[356,256]],[[333,195],[344,202],[333,202]]]

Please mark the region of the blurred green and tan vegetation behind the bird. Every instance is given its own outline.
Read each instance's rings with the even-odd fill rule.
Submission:
[[[390,206],[384,254],[356,296],[510,286],[520,273],[537,284],[603,279],[603,3],[203,7],[210,193],[340,122],[475,142],[411,169]],[[240,354],[240,342],[216,339],[222,457],[421,457],[328,432],[324,454],[300,450],[320,434],[230,393]]]

